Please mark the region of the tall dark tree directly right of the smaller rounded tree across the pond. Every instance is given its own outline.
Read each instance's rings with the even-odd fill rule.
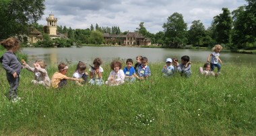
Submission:
[[[228,8],[222,8],[223,13],[214,17],[216,24],[216,41],[223,44],[229,44],[231,38],[232,18]]]

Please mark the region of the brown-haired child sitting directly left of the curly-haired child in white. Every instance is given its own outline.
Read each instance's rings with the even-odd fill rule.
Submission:
[[[100,67],[100,65],[102,65],[102,61],[100,58],[96,58],[94,59],[93,62],[94,66],[90,67],[90,81],[89,83],[91,83],[92,85],[96,84],[101,86],[104,81],[102,80],[102,73],[103,73],[103,69],[102,67]]]

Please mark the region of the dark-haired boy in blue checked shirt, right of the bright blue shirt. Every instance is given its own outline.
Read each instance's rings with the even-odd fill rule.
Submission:
[[[137,71],[139,79],[147,79],[151,75],[150,67],[148,66],[148,58],[142,57],[141,65],[138,67]]]

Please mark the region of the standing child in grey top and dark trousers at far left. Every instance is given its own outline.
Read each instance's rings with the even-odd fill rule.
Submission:
[[[7,38],[1,42],[7,51],[1,57],[3,69],[6,71],[6,77],[10,85],[9,100],[17,102],[20,98],[17,96],[18,86],[20,83],[20,71],[22,64],[15,56],[15,52],[20,48],[20,42],[15,38]]]

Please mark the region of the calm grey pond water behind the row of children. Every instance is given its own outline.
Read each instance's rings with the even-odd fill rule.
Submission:
[[[207,61],[211,50],[191,50],[191,49],[177,49],[177,48],[139,48],[127,46],[82,46],[77,48],[72,46],[70,48],[23,48],[22,51],[28,54],[29,63],[33,63],[36,59],[43,59],[47,64],[57,65],[61,61],[66,60],[72,63],[84,61],[85,63],[92,63],[94,58],[100,57],[104,62],[110,62],[113,59],[133,59],[137,55],[148,57],[151,62],[163,62],[166,58],[177,57],[181,61],[183,55],[189,55],[191,62]],[[220,52],[220,59],[223,63],[251,63],[256,64],[256,55],[240,54],[240,53],[224,53]]]

